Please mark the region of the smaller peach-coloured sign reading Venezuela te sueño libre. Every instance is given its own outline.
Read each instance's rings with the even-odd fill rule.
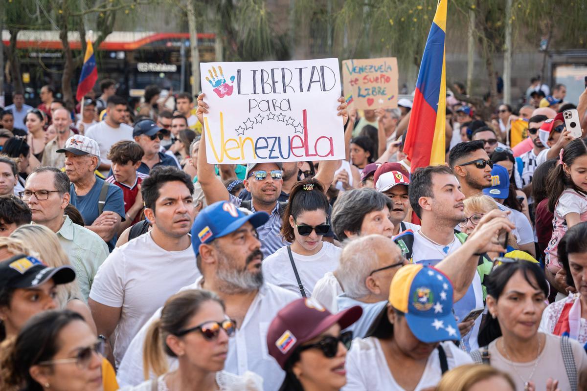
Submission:
[[[397,107],[397,59],[344,60],[342,79],[349,106],[360,110]]]

